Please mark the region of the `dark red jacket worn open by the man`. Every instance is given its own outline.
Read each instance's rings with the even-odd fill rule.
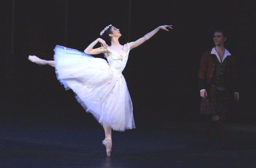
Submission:
[[[208,85],[211,84],[213,79],[213,74],[215,71],[215,54],[211,54],[211,51],[206,51],[203,53],[202,60],[200,63],[200,69],[198,71],[198,79],[199,79],[199,89],[207,89]],[[234,68],[234,57],[232,55],[228,55],[225,59],[227,59],[227,76],[228,76],[228,86],[231,91],[237,91],[237,79],[236,79],[236,70]]]

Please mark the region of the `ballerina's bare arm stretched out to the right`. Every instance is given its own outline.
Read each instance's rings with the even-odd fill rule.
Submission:
[[[172,26],[172,25],[171,25]],[[135,47],[138,47],[139,45],[141,45],[142,43],[144,43],[145,41],[147,41],[148,39],[150,39],[152,36],[154,36],[160,29],[169,31],[167,28],[171,28],[171,26],[159,26],[158,28],[156,28],[155,30],[153,30],[152,32],[149,32],[148,34],[146,34],[145,36],[143,36],[142,38],[139,38],[138,40],[136,40],[135,42],[131,42],[130,44],[130,49],[134,49]]]

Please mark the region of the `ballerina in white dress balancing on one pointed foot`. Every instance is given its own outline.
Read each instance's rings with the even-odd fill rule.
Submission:
[[[132,113],[132,101],[124,76],[131,49],[138,47],[154,36],[160,29],[169,31],[171,26],[159,26],[135,42],[121,45],[119,29],[112,25],[100,32],[102,38],[93,41],[84,52],[57,45],[54,49],[54,61],[41,60],[30,55],[28,60],[39,65],[55,67],[57,79],[67,89],[72,89],[83,108],[91,113],[103,126],[106,154],[110,156],[112,148],[112,129],[124,131],[135,128]],[[101,47],[93,49],[100,43]],[[91,55],[104,53],[106,60]]]

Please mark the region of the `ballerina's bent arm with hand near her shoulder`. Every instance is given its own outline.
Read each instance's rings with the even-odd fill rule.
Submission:
[[[93,49],[93,47],[100,42],[101,47]],[[104,40],[102,40],[102,38],[97,38],[95,41],[93,41],[86,49],[85,49],[85,53],[86,54],[100,54],[100,53],[106,53],[108,52],[108,50],[106,49],[108,47],[108,45],[106,44],[106,42]]]

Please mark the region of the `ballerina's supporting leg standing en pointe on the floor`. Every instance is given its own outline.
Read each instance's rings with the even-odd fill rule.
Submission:
[[[102,141],[103,145],[106,146],[106,153],[107,156],[110,156],[111,148],[112,148],[112,138],[111,138],[111,132],[112,128],[109,123],[106,121],[103,122],[103,128],[105,131],[105,139]]]

